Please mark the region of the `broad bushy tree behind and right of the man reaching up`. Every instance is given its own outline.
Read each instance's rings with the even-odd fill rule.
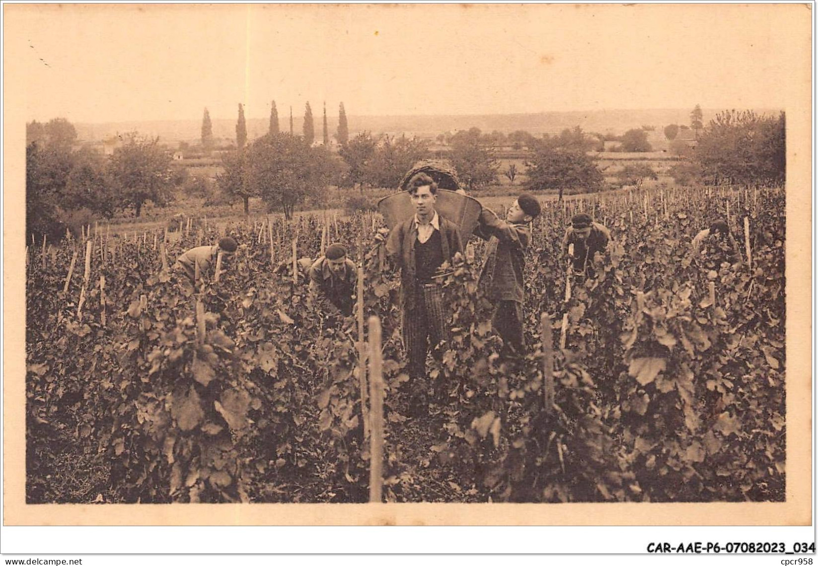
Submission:
[[[598,191],[604,181],[602,172],[591,157],[581,151],[563,150],[554,139],[533,142],[533,156],[525,162],[524,185],[529,190],[556,189],[562,199],[567,188]]]

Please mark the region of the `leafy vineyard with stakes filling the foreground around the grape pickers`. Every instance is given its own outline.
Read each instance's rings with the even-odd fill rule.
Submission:
[[[444,281],[452,340],[429,358],[443,399],[422,415],[378,215],[29,245],[26,501],[368,501],[369,338],[312,303],[294,262],[336,240],[383,328],[384,501],[784,501],[784,190],[542,204],[523,366],[498,357],[473,239]],[[576,212],[613,238],[586,281],[560,260]],[[740,265],[692,258],[717,218]],[[225,234],[239,252],[181,285],[175,258]]]

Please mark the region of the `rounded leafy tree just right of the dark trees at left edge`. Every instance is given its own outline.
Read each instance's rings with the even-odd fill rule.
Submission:
[[[159,145],[158,137],[127,136],[128,142],[110,156],[110,179],[115,185],[119,206],[133,206],[137,218],[142,205],[150,200],[164,206],[173,199],[173,159],[168,150]]]

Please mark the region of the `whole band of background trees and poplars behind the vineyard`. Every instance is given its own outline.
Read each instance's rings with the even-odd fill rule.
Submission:
[[[564,129],[559,134],[535,137],[518,131],[508,135],[482,133],[470,128],[444,133],[437,142],[446,144],[436,154],[429,140],[416,137],[373,136],[357,133],[348,137],[343,102],[339,106],[339,127],[335,134],[338,152],[330,151],[323,115],[323,145],[315,145],[311,130],[312,109],[305,108],[303,134],[281,132],[275,101],[272,103],[268,133],[248,140],[244,108],[239,105],[236,121],[236,149],[222,153],[222,172],[215,179],[187,176],[187,169],[174,166],[168,148],[158,138],[138,133],[120,136],[110,155],[77,146],[77,133],[66,119],[52,119],[26,125],[26,221],[27,231],[59,236],[65,227],[87,224],[93,218],[112,218],[132,211],[136,217],[144,204],[164,206],[173,200],[175,189],[207,197],[206,204],[243,202],[260,198],[270,210],[280,210],[290,218],[306,200],[321,207],[326,204],[326,187],[363,190],[366,186],[397,187],[402,175],[420,159],[448,159],[467,190],[497,182],[504,174],[529,191],[565,189],[600,191],[605,176],[596,160],[599,134],[582,128]],[[756,115],[752,111],[727,110],[701,124],[697,105],[691,113],[690,129],[698,140],[679,148],[670,174],[677,184],[780,184],[785,174],[785,117]],[[681,128],[681,127],[679,127]],[[675,131],[674,131],[675,130]],[[620,138],[623,144],[646,139],[645,128],[630,130]],[[637,135],[637,133],[639,135]],[[666,137],[678,133],[665,128]],[[671,134],[671,135],[668,135]],[[311,137],[312,135],[312,137]],[[525,149],[528,157],[518,170],[510,164],[501,171],[500,146],[511,142]],[[212,147],[213,131],[205,109],[202,146]],[[657,178],[645,164],[628,164],[616,173],[620,185],[640,185],[645,178]]]

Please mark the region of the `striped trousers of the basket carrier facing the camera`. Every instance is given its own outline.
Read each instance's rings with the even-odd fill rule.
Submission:
[[[425,383],[426,357],[429,350],[449,339],[447,315],[443,312],[443,289],[437,285],[418,285],[415,308],[404,310],[401,326],[403,344],[409,358],[409,377]]]

